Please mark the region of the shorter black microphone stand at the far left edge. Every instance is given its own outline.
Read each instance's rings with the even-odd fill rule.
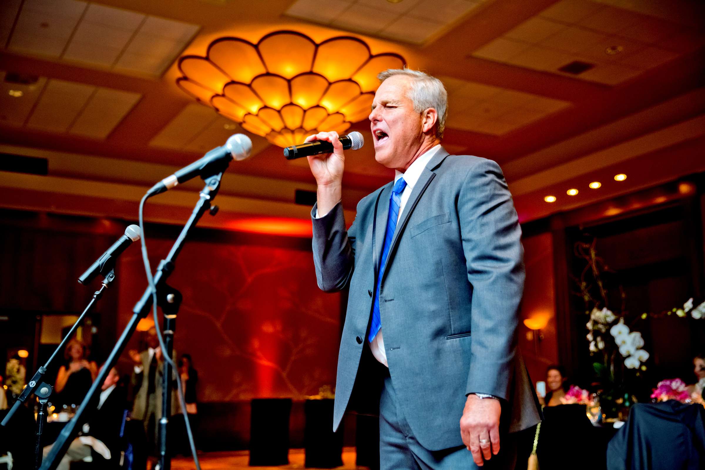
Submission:
[[[90,311],[91,307],[93,307],[93,304],[100,300],[101,297],[103,297],[103,291],[106,290],[108,286],[115,280],[115,259],[111,259],[112,261],[108,264],[105,264],[102,270],[100,271],[101,274],[104,276],[104,280],[101,283],[100,290],[97,290],[93,293],[93,298],[90,302],[88,302],[88,305],[83,310],[82,314],[80,314],[80,316],[78,317],[78,320],[73,323],[71,330],[68,330],[68,333],[63,338],[63,340],[61,340],[59,346],[56,347],[56,350],[51,353],[51,357],[49,357],[49,360],[47,360],[47,364],[44,364],[44,366],[39,367],[35,375],[32,377],[30,383],[27,383],[27,386],[25,386],[25,389],[17,398],[15,404],[13,404],[8,414],[6,414],[5,418],[2,420],[2,423],[0,423],[1,426],[7,426],[7,423],[12,419],[12,416],[15,414],[15,412],[17,412],[19,407],[22,406],[22,404],[26,402],[32,394],[36,395],[37,399],[39,400],[39,412],[37,413],[37,433],[35,436],[35,469],[39,469],[39,465],[42,464],[42,433],[44,433],[44,425],[47,423],[47,402],[49,401],[49,396],[51,396],[51,392],[53,390],[50,384],[42,381],[42,378],[44,377],[44,373],[47,373],[47,369],[49,369],[49,366],[51,366],[51,362],[54,361],[56,355],[59,354],[60,351],[63,351],[64,347],[66,347],[66,343],[68,342],[68,340],[71,340],[71,338],[73,337],[73,333],[75,333],[75,331],[78,329],[78,326],[80,326],[80,324],[83,322],[83,318],[86,316],[88,311]],[[38,392],[36,391],[37,388],[39,388]]]

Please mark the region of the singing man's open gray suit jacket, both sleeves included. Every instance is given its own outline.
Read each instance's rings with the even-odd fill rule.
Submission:
[[[334,429],[348,407],[367,338],[392,187],[388,183],[357,204],[350,230],[341,204],[313,218],[319,287],[350,286]],[[429,450],[462,445],[460,416],[472,392],[503,400],[509,431],[539,422],[538,400],[517,350],[524,288],[520,237],[499,166],[436,152],[398,222],[379,296],[389,373],[412,431]]]

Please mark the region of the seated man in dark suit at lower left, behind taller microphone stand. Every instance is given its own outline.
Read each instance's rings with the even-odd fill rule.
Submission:
[[[120,374],[117,369],[110,369],[101,386],[97,409],[83,425],[83,435],[75,438],[69,445],[59,466],[56,467],[57,470],[68,470],[71,462],[90,462],[93,456],[97,455],[108,460],[120,458],[120,428],[126,401],[125,390],[118,385],[119,381]],[[50,451],[51,445],[44,447],[45,459]]]

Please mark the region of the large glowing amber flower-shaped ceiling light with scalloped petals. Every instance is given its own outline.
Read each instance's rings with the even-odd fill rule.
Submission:
[[[257,44],[221,37],[206,56],[183,56],[176,84],[253,134],[288,147],[320,130],[342,134],[369,116],[377,74],[402,68],[398,54],[372,54],[355,37],[320,44],[276,31]]]

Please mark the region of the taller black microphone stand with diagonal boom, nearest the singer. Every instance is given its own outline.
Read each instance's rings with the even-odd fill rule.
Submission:
[[[162,351],[162,354],[168,354],[168,357],[171,357],[171,353],[173,350],[173,328],[175,328],[176,313],[178,312],[178,307],[180,305],[182,296],[180,292],[178,292],[178,290],[166,284],[166,279],[171,276],[171,273],[173,273],[173,269],[175,267],[174,261],[176,260],[178,254],[181,252],[186,237],[191,233],[196,223],[198,223],[198,221],[203,216],[203,214],[205,214],[206,211],[209,211],[212,216],[216,215],[216,213],[218,212],[218,206],[212,206],[211,202],[212,199],[216,197],[216,194],[218,194],[218,190],[220,189],[221,178],[223,177],[223,173],[225,172],[229,163],[230,161],[224,161],[221,165],[221,168],[213,170],[218,171],[218,173],[214,173],[213,175],[209,175],[207,177],[202,176],[202,178],[206,182],[206,185],[200,192],[200,199],[198,199],[198,202],[196,203],[196,206],[193,209],[191,216],[185,223],[183,229],[181,230],[181,233],[178,235],[176,242],[174,242],[173,246],[171,247],[171,251],[166,256],[166,259],[161,260],[161,263],[159,263],[159,268],[157,268],[157,273],[154,274],[154,286],[157,288],[157,305],[161,307],[162,311],[164,312],[164,333],[166,336],[166,347],[168,349],[168,351]],[[44,461],[44,463],[42,464],[41,470],[56,470],[56,467],[59,466],[59,462],[61,462],[61,457],[63,457],[63,454],[66,454],[68,446],[71,445],[71,441],[78,434],[78,431],[80,431],[80,426],[82,426],[83,422],[85,421],[83,415],[91,404],[94,395],[99,392],[101,384],[105,381],[105,378],[110,372],[110,369],[112,369],[112,367],[115,365],[116,361],[118,360],[118,357],[120,357],[123,350],[125,349],[125,345],[127,345],[133,333],[135,333],[137,323],[139,323],[141,319],[144,319],[147,314],[149,314],[149,310],[151,308],[152,289],[148,286],[145,290],[145,293],[142,294],[140,300],[137,301],[137,304],[135,304],[135,307],[133,308],[133,316],[130,318],[130,321],[128,322],[127,326],[125,326],[125,329],[120,335],[120,338],[118,338],[115,347],[109,354],[108,359],[106,359],[103,368],[99,371],[97,378],[93,382],[93,385],[91,385],[90,390],[88,390],[86,397],[80,404],[80,407],[78,407],[78,410],[73,416],[73,419],[71,419],[71,421],[69,421],[66,426],[64,426],[63,430],[59,434],[59,438],[56,439],[56,442],[51,447],[51,452],[47,456],[47,460]],[[160,470],[171,469],[171,457],[166,452],[166,425],[168,423],[169,412],[171,411],[170,385],[171,366],[169,366],[168,361],[164,361],[164,381],[161,389],[161,419],[159,419]]]

